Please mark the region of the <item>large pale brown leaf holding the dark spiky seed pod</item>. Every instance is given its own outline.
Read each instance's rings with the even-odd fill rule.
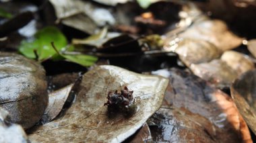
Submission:
[[[159,109],[168,79],[139,75],[117,66],[98,66],[83,76],[75,103],[58,120],[39,126],[32,142],[122,142]],[[137,110],[130,116],[109,113],[108,92],[127,86]],[[71,134],[72,133],[72,134]]]

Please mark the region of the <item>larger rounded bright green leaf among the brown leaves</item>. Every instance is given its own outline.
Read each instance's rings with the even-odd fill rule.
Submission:
[[[61,50],[67,45],[67,38],[61,33],[58,28],[49,26],[39,30],[34,35],[32,42],[22,41],[20,45],[20,52],[28,58],[36,58],[34,50],[38,53],[38,60],[46,60],[51,57],[56,57],[57,54],[51,46],[51,42],[55,42],[57,50]]]

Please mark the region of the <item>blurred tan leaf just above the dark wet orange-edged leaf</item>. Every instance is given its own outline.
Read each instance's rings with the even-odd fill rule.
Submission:
[[[190,68],[198,77],[223,88],[229,87],[236,77],[255,66],[247,55],[228,50],[222,54],[220,60],[191,64]]]

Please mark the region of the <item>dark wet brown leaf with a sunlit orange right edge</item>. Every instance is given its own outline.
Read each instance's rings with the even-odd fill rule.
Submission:
[[[188,120],[192,120],[193,124],[204,128],[208,134],[208,139],[212,140],[212,142],[252,142],[243,117],[228,95],[210,87],[202,79],[183,70],[172,68],[169,73],[170,83],[167,87],[161,109],[175,108],[181,111],[182,108],[185,108],[188,111],[185,111],[184,115],[182,115],[187,117],[187,114],[189,114]],[[170,110],[169,112],[172,111]],[[168,118],[168,116],[165,117],[165,113],[161,113],[163,115],[161,122],[163,124],[172,122],[172,119]],[[169,116],[175,113],[174,111]],[[174,116],[178,117],[178,123],[181,122],[179,121],[179,115]],[[203,121],[203,117],[205,121]],[[189,124],[190,122],[187,122],[184,126],[187,128]],[[171,129],[162,133],[163,136],[170,136],[170,134],[172,134]],[[199,135],[201,136],[201,134]],[[196,133],[193,136],[197,136]],[[190,139],[193,139],[193,136]],[[154,138],[153,132],[152,137]],[[182,137],[179,136],[179,138]],[[184,136],[182,139],[186,138]]]

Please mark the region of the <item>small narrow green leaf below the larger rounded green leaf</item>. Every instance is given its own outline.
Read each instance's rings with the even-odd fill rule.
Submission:
[[[77,64],[81,64],[82,66],[92,66],[94,62],[98,60],[96,56],[84,55],[84,54],[77,54],[77,55],[68,55],[68,54],[61,54],[64,58],[71,62],[75,62]]]

